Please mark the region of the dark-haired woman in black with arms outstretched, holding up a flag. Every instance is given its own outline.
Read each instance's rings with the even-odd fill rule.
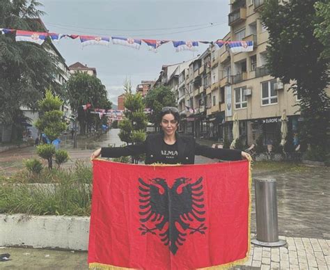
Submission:
[[[123,148],[100,148],[91,155],[95,159],[102,157],[123,157],[146,154],[146,164],[194,164],[195,155],[211,159],[240,160],[251,159],[250,155],[240,150],[210,148],[199,145],[194,138],[177,134],[180,116],[175,107],[164,107],[161,113],[160,126],[162,134],[149,135],[141,144],[128,145]]]

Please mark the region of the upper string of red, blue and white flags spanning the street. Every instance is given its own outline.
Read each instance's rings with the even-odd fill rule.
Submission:
[[[124,38],[118,36],[97,36],[97,35],[75,35],[75,34],[61,34],[61,33],[47,33],[47,32],[36,32],[36,31],[23,31],[16,29],[1,29],[2,34],[15,33],[16,41],[27,41],[33,42],[38,45],[42,45],[47,37],[51,38],[52,41],[58,42],[62,38],[70,38],[72,40],[79,38],[82,47],[90,45],[103,45],[109,46],[111,41],[113,45],[123,45],[134,49],[140,49],[142,42],[148,46],[150,51],[157,52],[160,46],[172,42],[175,51],[197,51],[199,44],[216,44],[219,48],[223,45],[227,45],[230,51],[233,53],[242,51],[253,51],[253,40],[247,41],[224,41],[216,40],[212,41],[191,41],[191,40],[150,40],[150,39],[136,39],[136,38]]]

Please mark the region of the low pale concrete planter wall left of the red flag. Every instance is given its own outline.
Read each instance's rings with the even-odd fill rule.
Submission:
[[[88,250],[89,216],[0,214],[0,246]]]

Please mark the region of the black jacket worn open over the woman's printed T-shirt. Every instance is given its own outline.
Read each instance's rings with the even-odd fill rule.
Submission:
[[[146,164],[160,162],[161,145],[163,135],[149,135],[146,141],[136,145],[127,145],[118,148],[102,148],[102,157],[126,157],[138,154],[146,154]],[[210,159],[241,160],[242,155],[239,150],[229,150],[221,148],[210,148],[199,145],[195,139],[189,136],[177,136],[178,160],[180,164],[194,164],[195,155],[209,157]]]

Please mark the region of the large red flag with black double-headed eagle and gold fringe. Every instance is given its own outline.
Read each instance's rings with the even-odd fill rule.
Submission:
[[[242,264],[250,186],[249,161],[148,166],[94,159],[89,267]]]

